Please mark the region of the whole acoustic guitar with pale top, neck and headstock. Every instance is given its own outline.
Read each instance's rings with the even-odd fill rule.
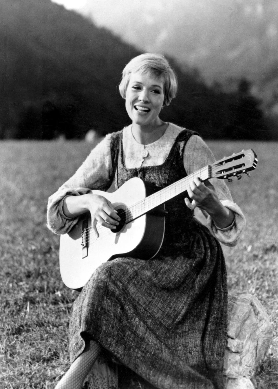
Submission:
[[[212,165],[188,175],[173,184],[155,192],[138,177],[131,178],[113,193],[93,190],[95,195],[107,198],[118,211],[121,222],[117,229],[97,224],[99,237],[91,229],[88,214],[68,234],[60,237],[59,263],[66,286],[80,290],[102,263],[121,256],[153,258],[159,251],[164,237],[164,203],[187,191],[194,177],[201,181],[211,178],[241,178],[257,166],[257,156],[252,149],[243,150],[230,157],[220,159]]]

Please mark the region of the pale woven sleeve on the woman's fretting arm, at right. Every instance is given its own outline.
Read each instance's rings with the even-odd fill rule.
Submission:
[[[215,158],[208,145],[198,135],[192,135],[184,149],[184,167],[187,175],[214,162]],[[217,228],[212,218],[206,212],[196,208],[195,216],[201,223],[206,224],[210,232],[219,242],[227,246],[235,246],[240,240],[241,232],[246,225],[245,217],[240,207],[233,202],[231,193],[224,180],[214,178],[210,179],[210,183],[213,185],[215,193],[224,207],[233,211],[234,222],[230,228],[220,229]]]

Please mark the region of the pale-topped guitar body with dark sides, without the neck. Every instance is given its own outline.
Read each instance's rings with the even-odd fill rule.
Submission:
[[[92,191],[107,198],[115,209],[129,208],[149,195],[149,188],[140,178],[132,178],[113,193]],[[99,237],[90,233],[91,219],[84,218],[60,238],[59,262],[63,282],[72,289],[81,289],[94,270],[109,259],[131,256],[150,259],[159,251],[164,237],[164,205],[124,224],[118,232],[97,224]],[[85,231],[85,232],[84,232]]]

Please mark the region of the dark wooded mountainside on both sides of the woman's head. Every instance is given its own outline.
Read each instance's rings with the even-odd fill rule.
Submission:
[[[1,0],[0,138],[71,138],[84,137],[91,128],[99,133],[121,129],[129,118],[117,85],[125,64],[139,53],[50,0]],[[261,129],[260,137],[269,137],[249,86],[241,88],[239,82],[233,93],[223,92],[169,60],[179,91],[164,108],[164,120],[205,138],[252,138]],[[257,132],[250,131],[254,126]]]

